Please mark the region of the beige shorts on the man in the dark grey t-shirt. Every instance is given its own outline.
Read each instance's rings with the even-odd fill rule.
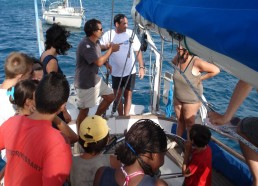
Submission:
[[[77,107],[79,109],[92,108],[98,103],[99,96],[113,94],[113,90],[102,79],[89,89],[76,88],[77,93]]]

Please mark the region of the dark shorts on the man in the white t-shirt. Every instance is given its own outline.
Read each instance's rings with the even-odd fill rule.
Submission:
[[[126,81],[128,79],[129,76],[125,76],[125,77],[122,77],[122,82],[121,82],[121,85],[120,85],[120,89],[125,87],[125,84],[126,84]],[[129,80],[128,80],[128,83],[126,85],[126,89],[127,90],[133,90],[134,89],[134,86],[135,86],[135,78],[136,78],[136,74],[131,74]],[[119,83],[120,83],[120,80],[121,80],[121,77],[115,77],[115,76],[112,76],[112,88],[114,90],[117,90],[118,89],[118,86],[119,86]]]

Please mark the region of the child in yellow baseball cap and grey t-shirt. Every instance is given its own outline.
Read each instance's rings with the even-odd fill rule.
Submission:
[[[109,140],[107,121],[100,116],[88,116],[80,125],[79,144],[84,153],[73,157],[70,173],[72,186],[92,186],[94,175],[101,166],[120,167],[116,156],[101,154]]]

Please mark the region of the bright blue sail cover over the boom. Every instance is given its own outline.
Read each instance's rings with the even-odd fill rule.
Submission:
[[[257,0],[141,0],[150,22],[258,71]]]

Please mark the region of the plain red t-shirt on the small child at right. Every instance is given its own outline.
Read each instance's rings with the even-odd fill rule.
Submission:
[[[192,159],[187,166],[193,175],[185,178],[186,186],[210,186],[212,170],[212,152],[207,146],[203,151],[193,150]]]

